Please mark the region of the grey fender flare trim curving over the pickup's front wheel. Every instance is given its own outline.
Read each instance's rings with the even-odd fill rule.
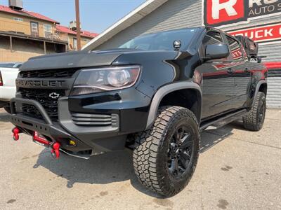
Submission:
[[[145,130],[148,130],[153,123],[155,122],[155,119],[157,118],[157,111],[159,108],[159,104],[162,101],[162,99],[166,96],[166,94],[169,94],[171,92],[174,92],[176,90],[183,90],[183,89],[192,89],[196,90],[197,92],[200,92],[200,102],[198,103],[198,110],[199,114],[197,117],[198,123],[200,123],[201,120],[201,113],[202,113],[202,90],[200,85],[197,83],[194,83],[192,81],[185,81],[185,82],[178,82],[178,83],[172,83],[169,85],[165,85],[164,87],[160,87],[159,90],[155,93],[152,102],[150,104],[150,111],[148,113],[148,122],[146,124]]]

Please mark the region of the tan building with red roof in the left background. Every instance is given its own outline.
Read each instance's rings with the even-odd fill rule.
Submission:
[[[77,50],[75,28],[18,5],[0,5],[0,62],[25,62],[28,58]],[[97,34],[81,31],[81,45]]]

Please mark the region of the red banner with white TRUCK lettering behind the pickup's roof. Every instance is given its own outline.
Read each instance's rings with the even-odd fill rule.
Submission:
[[[228,31],[228,34],[247,36],[256,42],[279,41],[281,40],[281,24]]]

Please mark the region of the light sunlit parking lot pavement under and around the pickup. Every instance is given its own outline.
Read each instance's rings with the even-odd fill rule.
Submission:
[[[168,199],[138,183],[128,151],[53,160],[12,127],[0,109],[0,209],[281,209],[281,110],[260,132],[240,121],[202,132],[194,176]]]

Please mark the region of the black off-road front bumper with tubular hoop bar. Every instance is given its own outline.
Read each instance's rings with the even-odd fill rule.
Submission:
[[[89,97],[91,98],[91,96]],[[141,100],[141,104],[144,101]],[[97,104],[91,105],[89,108],[89,104],[86,104],[85,106],[79,106],[81,110],[75,110],[75,107],[72,106],[76,102],[80,105],[83,104],[80,99],[61,97],[58,101],[58,123],[55,123],[48,117],[44,107],[39,102],[16,97],[11,99],[11,123],[26,134],[32,135],[34,132],[38,132],[46,137],[48,141],[60,143],[61,148],[67,152],[91,151],[92,155],[124,150],[127,134],[139,132],[145,128],[148,107],[147,109],[130,109],[127,106],[128,109],[122,109],[122,107],[120,108],[121,103],[115,101],[107,103],[107,106],[112,104],[115,109],[98,109],[98,107],[93,107],[98,106]],[[145,101],[145,104],[149,105],[149,102],[150,99]],[[72,106],[70,106],[70,103]],[[22,114],[20,111],[22,104],[35,106],[43,119],[32,118]],[[126,99],[124,97],[122,105],[123,107],[126,106]],[[136,104],[133,104],[133,106],[136,106]],[[92,113],[89,113],[89,111]],[[73,120],[74,113],[78,116],[83,115],[85,117],[89,115],[91,117],[97,115],[95,112],[114,116],[115,123],[108,126],[79,125],[79,123]],[[70,141],[74,141],[75,146],[70,145]]]

